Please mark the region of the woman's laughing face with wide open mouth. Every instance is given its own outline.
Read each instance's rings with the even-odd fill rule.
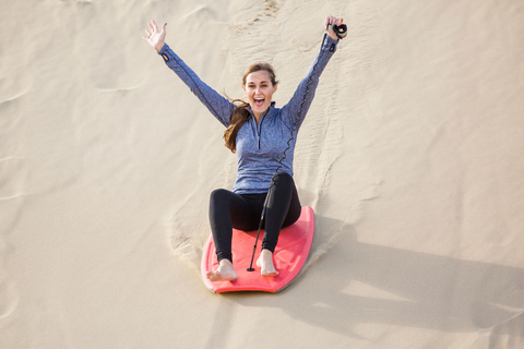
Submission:
[[[271,97],[276,91],[276,85],[271,83],[271,76],[267,71],[259,70],[246,77],[243,91],[254,117],[260,118],[270,107]]]

